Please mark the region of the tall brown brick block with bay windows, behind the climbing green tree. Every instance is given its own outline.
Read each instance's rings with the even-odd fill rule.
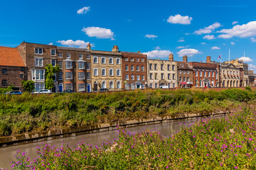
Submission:
[[[60,72],[53,76],[53,92],[71,89],[76,92],[90,91],[87,85],[87,61],[90,51],[82,48],[57,47],[21,42],[18,46],[23,62],[27,67],[27,79],[35,81],[36,91],[45,89],[47,64],[60,66]],[[90,63],[90,62],[89,62]],[[90,84],[90,81],[89,81]]]

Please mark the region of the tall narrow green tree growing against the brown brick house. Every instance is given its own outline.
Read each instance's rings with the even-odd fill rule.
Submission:
[[[53,89],[53,74],[58,73],[60,71],[60,67],[57,65],[53,67],[52,64],[48,64],[45,67],[46,69],[46,89]]]

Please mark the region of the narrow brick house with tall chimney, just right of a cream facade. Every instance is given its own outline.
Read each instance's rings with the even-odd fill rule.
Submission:
[[[191,88],[193,86],[193,69],[188,64],[188,56],[183,56],[183,62],[177,62],[178,87]]]

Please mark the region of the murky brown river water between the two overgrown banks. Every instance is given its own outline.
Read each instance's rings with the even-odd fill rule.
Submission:
[[[176,120],[175,122],[171,123],[160,123],[160,124],[153,124],[153,125],[139,125],[132,128],[127,128],[130,132],[139,132],[140,130],[143,130],[144,128],[147,128],[149,130],[157,130],[161,132],[161,135],[164,136],[171,136],[172,133],[181,130],[181,126],[184,125],[192,125],[194,120]],[[116,130],[111,131],[105,131],[105,132],[97,132],[97,133],[91,133],[86,135],[80,135],[76,137],[66,137],[66,138],[60,138],[57,140],[48,140],[44,141],[43,145],[55,145],[57,148],[61,147],[63,145],[63,142],[69,144],[70,146],[76,145],[81,140],[84,140],[85,142],[88,142],[92,145],[97,145],[97,143],[102,142],[109,142],[117,138]],[[29,143],[25,145],[16,145],[11,147],[3,147],[0,148],[0,169],[11,169],[10,162],[14,160],[14,155],[20,149],[20,152],[27,152],[27,156],[31,157],[32,159],[37,156],[36,154],[36,147],[41,146],[42,142],[34,142]]]

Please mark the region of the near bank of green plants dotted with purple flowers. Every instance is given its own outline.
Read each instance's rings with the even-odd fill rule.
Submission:
[[[256,169],[256,110],[243,104],[225,118],[207,118],[172,137],[119,130],[100,146],[38,147],[30,160],[18,154],[14,169]]]

